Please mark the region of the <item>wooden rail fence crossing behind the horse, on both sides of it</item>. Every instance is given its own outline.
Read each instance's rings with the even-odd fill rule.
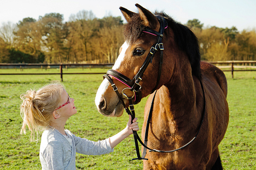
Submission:
[[[210,61],[209,63],[216,65],[223,71],[231,71],[232,78],[234,78],[234,71],[256,71],[256,61]],[[223,65],[224,64],[224,65]],[[113,64],[3,64],[0,63],[0,69],[2,68],[28,68],[32,66],[40,66],[41,69],[60,68],[60,73],[0,73],[0,75],[42,75],[42,74],[59,74],[61,81],[63,81],[64,74],[105,74],[105,73],[63,73],[63,66],[82,66],[85,68],[91,67],[107,67],[111,68]]]

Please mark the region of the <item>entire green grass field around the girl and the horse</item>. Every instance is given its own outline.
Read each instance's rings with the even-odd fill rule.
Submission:
[[[88,71],[105,73],[107,69],[68,69],[70,73]],[[0,73],[20,70],[0,69]],[[38,73],[41,69],[23,70]],[[47,71],[56,71],[48,69]],[[9,72],[8,72],[9,73]],[[52,72],[51,72],[52,73]],[[65,73],[65,70],[64,70]],[[219,150],[224,169],[256,169],[256,71],[225,72],[228,79],[230,121]],[[19,115],[19,95],[29,89],[60,80],[60,75],[0,75],[0,169],[41,169],[38,142],[29,142],[29,133],[20,135],[22,119]],[[126,126],[128,116],[107,118],[97,112],[94,104],[102,75],[63,75],[67,92],[75,99],[77,114],[70,117],[66,128],[88,140],[103,140],[115,135]],[[135,106],[136,116],[143,122],[146,99]],[[140,132],[139,132],[140,133]],[[102,156],[76,154],[77,169],[142,169],[142,161],[136,157],[133,137],[130,136],[115,147],[115,151]]]

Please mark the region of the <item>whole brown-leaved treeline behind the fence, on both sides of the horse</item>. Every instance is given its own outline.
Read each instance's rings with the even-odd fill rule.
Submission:
[[[256,60],[256,32],[186,23],[199,39],[203,60]],[[0,63],[114,63],[124,42],[121,17],[80,11],[63,23],[59,13],[24,18],[0,28]]]

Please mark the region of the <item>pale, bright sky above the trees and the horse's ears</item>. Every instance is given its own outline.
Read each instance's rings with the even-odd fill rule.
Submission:
[[[97,18],[122,17],[119,7],[137,12],[136,3],[151,12],[164,11],[181,24],[198,19],[203,28],[234,26],[239,32],[256,29],[255,0],[0,0],[0,26],[27,17],[38,19],[47,13],[63,14],[68,21],[71,14],[82,10],[92,11]]]

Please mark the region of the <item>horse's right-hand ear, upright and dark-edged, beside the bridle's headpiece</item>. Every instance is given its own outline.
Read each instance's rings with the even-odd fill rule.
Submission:
[[[151,29],[157,29],[157,27],[160,27],[159,22],[154,14],[152,14],[149,10],[141,7],[139,4],[135,4],[135,6],[139,9],[139,15],[143,25]]]

